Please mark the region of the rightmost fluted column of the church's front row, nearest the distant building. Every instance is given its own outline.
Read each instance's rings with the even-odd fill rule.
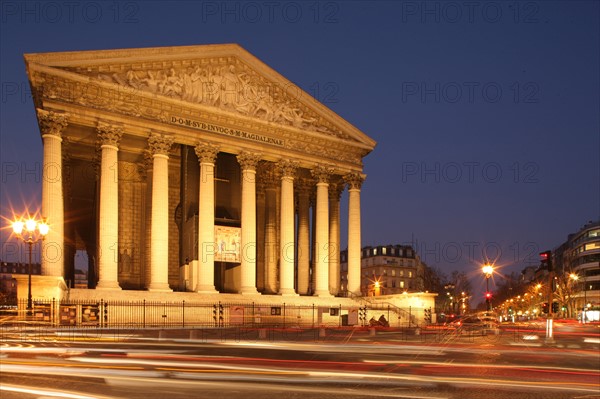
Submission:
[[[360,188],[361,173],[346,175],[348,184],[348,291],[360,294]]]

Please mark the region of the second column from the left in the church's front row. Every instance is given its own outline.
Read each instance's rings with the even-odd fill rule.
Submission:
[[[100,140],[100,220],[98,238],[98,274],[96,289],[118,289],[119,286],[119,141],[120,126],[98,123]]]

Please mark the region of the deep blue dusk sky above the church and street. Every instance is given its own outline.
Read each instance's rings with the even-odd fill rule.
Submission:
[[[0,4],[3,217],[41,198],[24,173],[42,158],[24,53],[212,43],[240,44],[377,141],[363,245],[413,242],[480,289],[483,248],[520,271],[600,216],[597,1]]]

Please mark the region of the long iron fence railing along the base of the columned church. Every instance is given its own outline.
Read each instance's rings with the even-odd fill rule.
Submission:
[[[102,328],[186,328],[186,327],[301,327],[367,326],[370,318],[387,314],[390,325],[412,321],[396,315],[410,312],[380,304],[339,305],[264,304],[264,303],[194,303],[188,301],[27,301],[0,310],[0,323],[19,321],[45,323],[53,326]],[[386,313],[387,312],[387,313]]]

